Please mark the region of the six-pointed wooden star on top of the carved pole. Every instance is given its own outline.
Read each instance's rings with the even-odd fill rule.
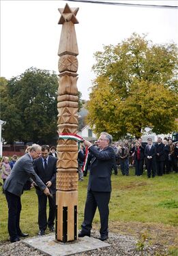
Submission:
[[[59,12],[61,14],[61,18],[59,19],[58,24],[63,24],[68,21],[72,21],[72,23],[77,24],[78,20],[76,19],[76,14],[79,8],[70,8],[68,3],[66,3],[65,8],[59,8]]]

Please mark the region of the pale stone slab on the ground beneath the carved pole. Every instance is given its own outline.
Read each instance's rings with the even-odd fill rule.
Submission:
[[[85,236],[84,238],[78,238],[76,241],[67,243],[56,241],[55,235],[28,238],[23,240],[23,242],[28,246],[31,246],[50,256],[72,255],[74,253],[82,253],[101,247],[111,246],[111,244],[102,242],[95,238],[89,238],[88,236]]]

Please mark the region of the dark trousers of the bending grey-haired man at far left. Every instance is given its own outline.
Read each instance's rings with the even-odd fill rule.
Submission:
[[[22,209],[20,197],[8,191],[5,191],[5,197],[8,202],[8,232],[10,240],[18,238],[20,230],[20,211]]]

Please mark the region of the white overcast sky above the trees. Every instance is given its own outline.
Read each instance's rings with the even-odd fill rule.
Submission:
[[[177,1],[117,1],[177,5]],[[78,41],[78,90],[89,98],[95,75],[93,53],[103,45],[118,44],[134,32],[148,33],[155,44],[178,43],[177,9],[136,8],[119,5],[74,3],[70,1],[1,0],[1,68],[6,79],[36,67],[58,72],[58,47],[61,25],[58,8],[65,3],[79,7],[76,18]]]

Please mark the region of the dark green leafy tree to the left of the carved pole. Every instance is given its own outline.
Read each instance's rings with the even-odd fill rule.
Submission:
[[[55,72],[29,68],[10,81],[1,78],[3,139],[50,143],[57,137],[57,88]]]

